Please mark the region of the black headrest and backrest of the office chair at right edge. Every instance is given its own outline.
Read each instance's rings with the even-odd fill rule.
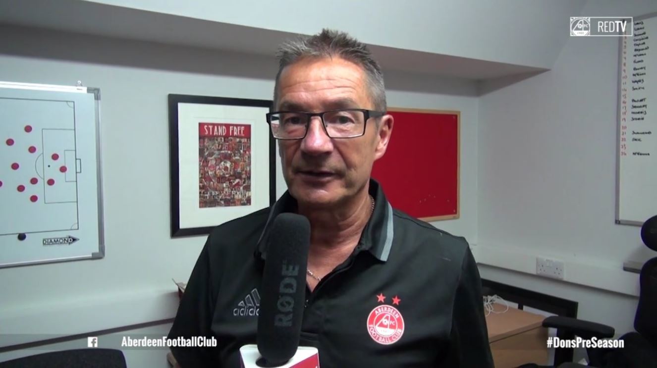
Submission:
[[[657,250],[657,216],[643,223],[641,239],[652,250]],[[657,346],[657,257],[641,267],[639,276],[639,305],[634,317],[634,329]]]

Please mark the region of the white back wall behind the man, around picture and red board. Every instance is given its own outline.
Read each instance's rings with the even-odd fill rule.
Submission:
[[[12,26],[0,34],[12,35],[0,39],[0,80],[101,89],[106,244],[102,260],[0,269],[3,346],[170,319],[171,277],[187,280],[205,237],[170,238],[167,95],[271,99],[275,60]],[[462,217],[438,225],[476,239],[476,85],[386,76],[391,106],[461,110]]]

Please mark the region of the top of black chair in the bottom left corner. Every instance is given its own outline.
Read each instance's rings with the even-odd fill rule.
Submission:
[[[127,368],[121,350],[74,349],[1,361],[0,368]]]

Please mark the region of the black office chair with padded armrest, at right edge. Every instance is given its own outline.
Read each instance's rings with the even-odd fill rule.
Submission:
[[[657,216],[641,227],[641,240],[657,251]],[[587,348],[589,367],[599,368],[657,368],[657,257],[641,267],[639,275],[639,304],[634,316],[634,332],[621,336],[625,347],[619,349]],[[611,338],[613,327],[568,317],[547,317],[543,327],[553,327],[574,333],[583,339]],[[568,363],[568,367],[576,367]],[[540,367],[522,365],[521,367]],[[566,365],[560,365],[566,367]]]

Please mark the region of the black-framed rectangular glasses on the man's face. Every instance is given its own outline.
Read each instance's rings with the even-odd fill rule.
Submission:
[[[276,139],[302,139],[306,137],[313,116],[319,116],[328,137],[355,138],[365,134],[369,118],[386,113],[363,108],[341,108],[325,112],[275,111],[267,114],[267,123]]]

